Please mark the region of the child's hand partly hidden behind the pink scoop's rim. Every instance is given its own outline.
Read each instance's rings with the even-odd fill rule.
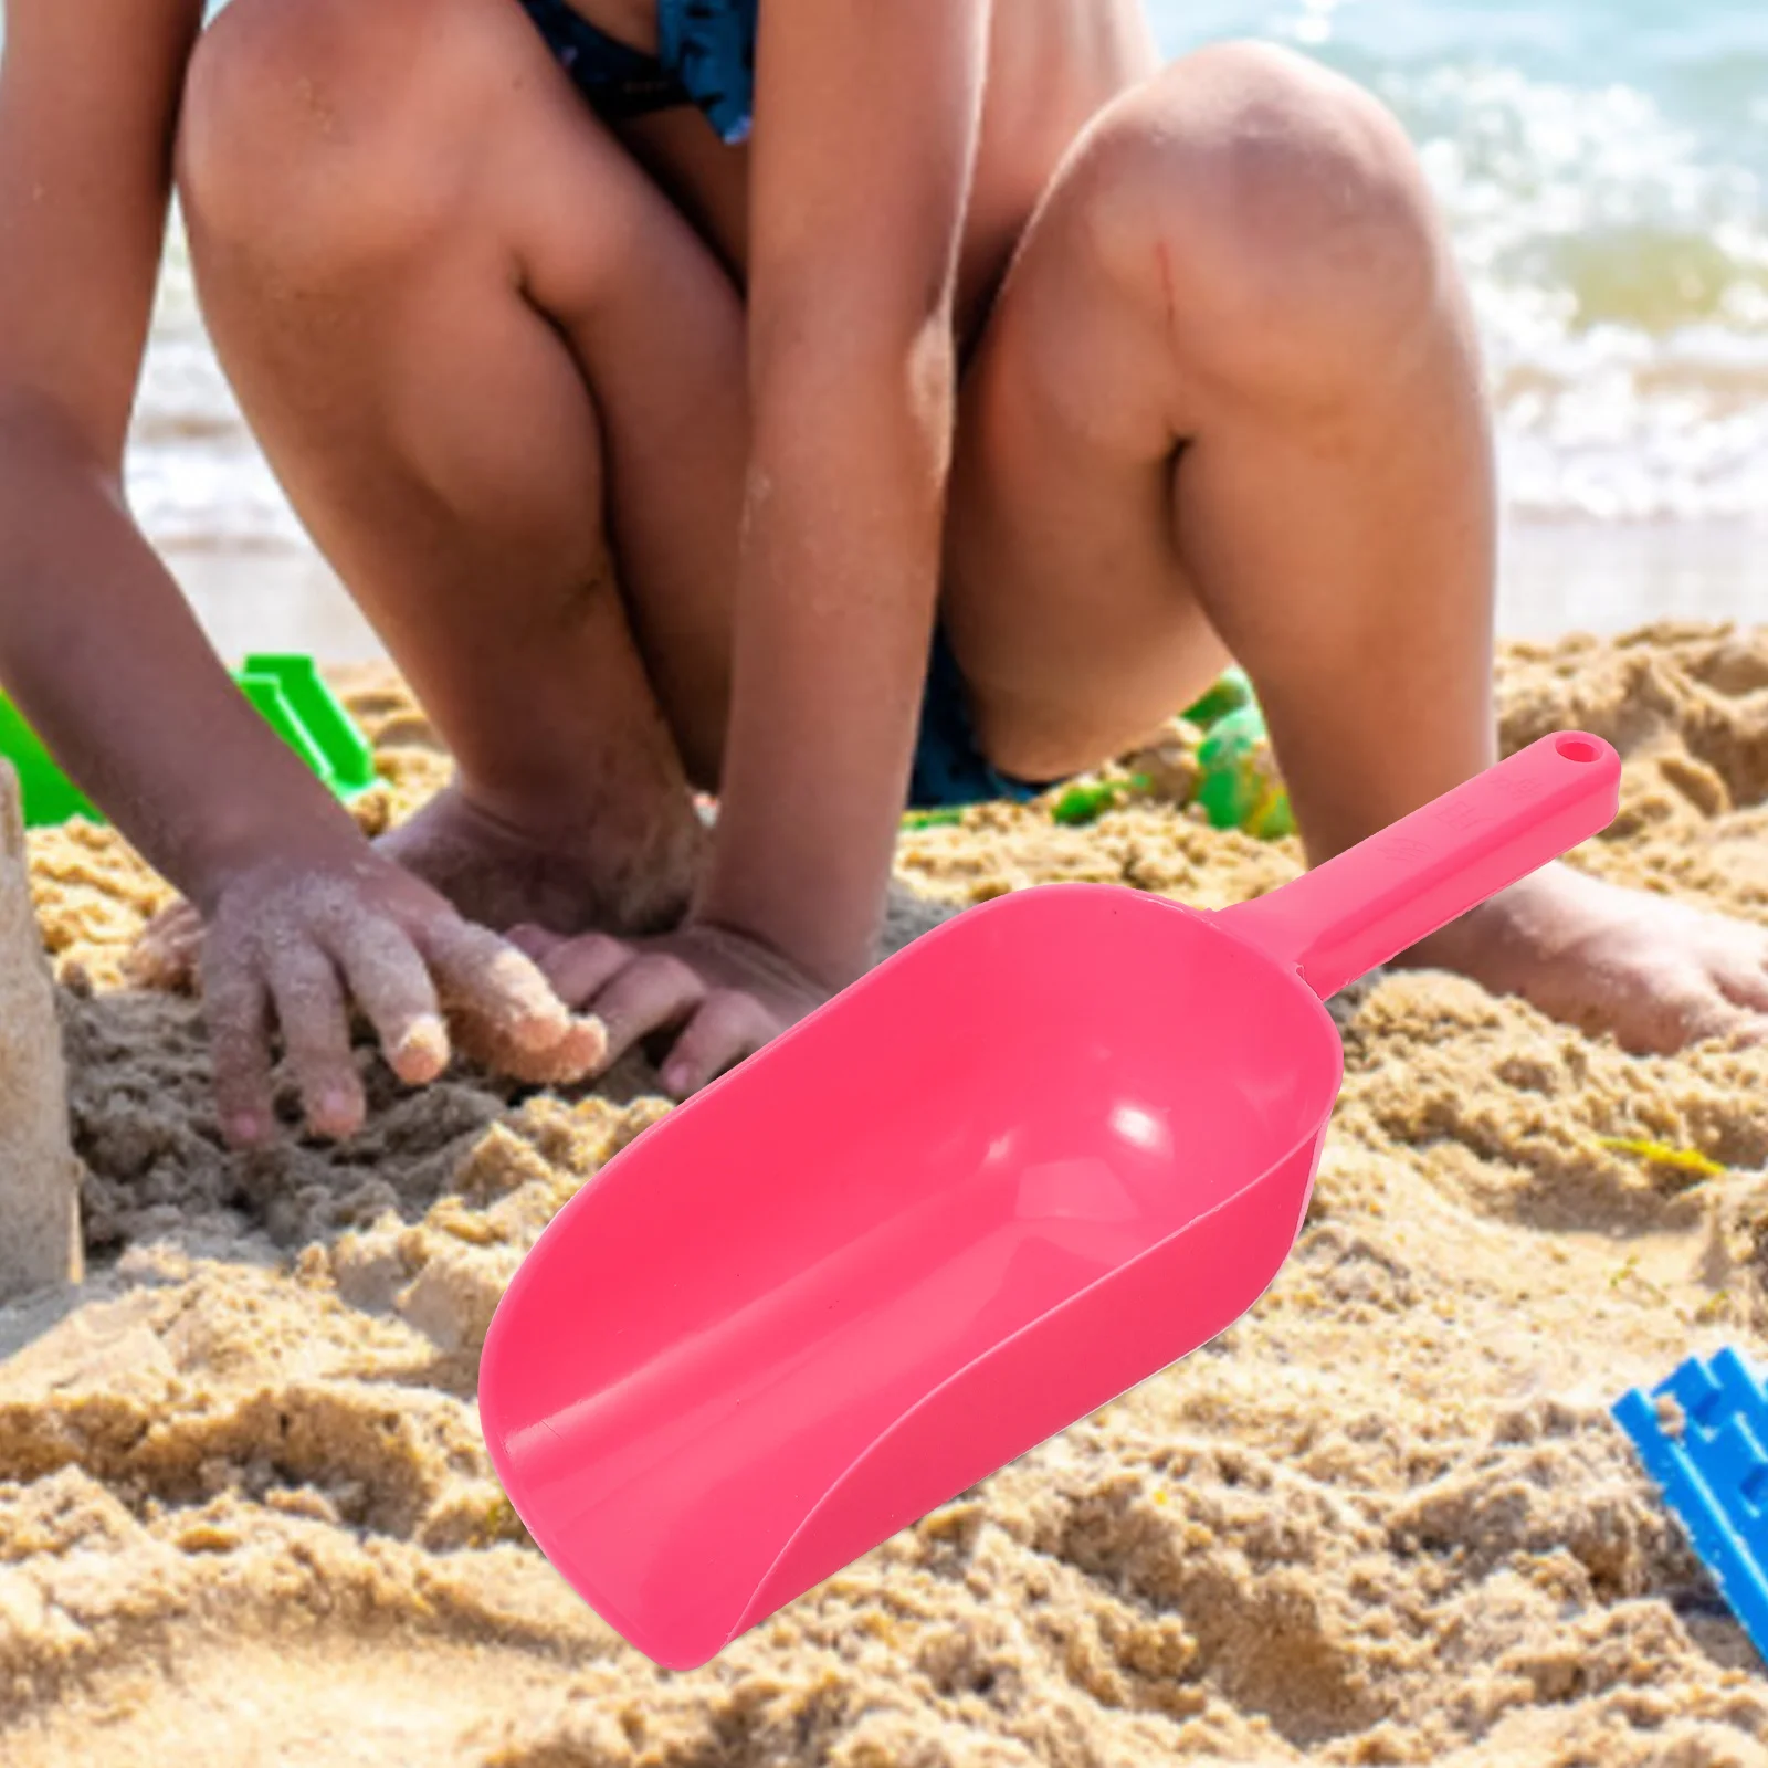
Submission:
[[[568,1006],[606,1025],[603,1066],[635,1043],[675,1033],[661,1064],[675,1098],[716,1080],[829,999],[826,987],[771,948],[705,923],[654,939],[560,939],[536,926],[518,926],[509,939],[539,962]]]

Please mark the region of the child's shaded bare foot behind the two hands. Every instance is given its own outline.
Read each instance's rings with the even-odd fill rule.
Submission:
[[[686,914],[705,829],[686,794],[638,831],[518,829],[451,785],[375,845],[481,926],[642,935]]]

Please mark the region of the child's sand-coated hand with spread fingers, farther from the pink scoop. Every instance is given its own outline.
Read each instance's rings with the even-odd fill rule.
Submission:
[[[163,916],[134,974],[164,983],[180,964],[202,979],[216,1105],[237,1147],[274,1130],[272,1029],[308,1128],[325,1137],[361,1128],[352,999],[410,1086],[447,1066],[444,1015],[467,1054],[522,1080],[580,1080],[606,1050],[601,1025],[575,1018],[520,951],[371,849],[240,872],[221,888],[200,941],[193,911]]]

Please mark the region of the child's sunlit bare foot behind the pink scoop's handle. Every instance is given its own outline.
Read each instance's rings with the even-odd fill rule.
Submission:
[[[1397,960],[1459,971],[1637,1054],[1768,1036],[1768,928],[1551,865]]]

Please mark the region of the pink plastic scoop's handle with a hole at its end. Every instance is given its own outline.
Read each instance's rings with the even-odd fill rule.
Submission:
[[[1218,919],[1324,1001],[1598,834],[1619,794],[1619,755],[1558,730]]]

